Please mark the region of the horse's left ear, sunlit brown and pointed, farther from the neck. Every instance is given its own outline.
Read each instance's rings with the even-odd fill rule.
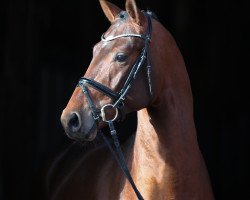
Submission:
[[[121,11],[121,9],[106,0],[99,0],[99,2],[108,20],[113,22],[115,20],[115,16]]]

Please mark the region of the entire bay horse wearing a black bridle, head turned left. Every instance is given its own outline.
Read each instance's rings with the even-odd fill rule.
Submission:
[[[67,136],[94,141],[107,124],[137,111],[135,134],[121,148],[141,196],[214,199],[197,142],[190,81],[174,38],[134,0],[126,0],[125,10],[106,0],[100,5],[111,26],[94,46],[92,61],[63,110]],[[65,163],[57,162],[65,169],[50,199],[138,198],[103,143]]]

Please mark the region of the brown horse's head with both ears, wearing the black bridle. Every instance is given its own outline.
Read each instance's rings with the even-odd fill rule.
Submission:
[[[159,93],[154,84],[161,72],[151,71],[155,20],[134,0],[126,1],[125,10],[106,0],[100,4],[111,26],[94,46],[92,61],[61,116],[66,134],[76,140],[93,140],[105,121],[147,107]]]

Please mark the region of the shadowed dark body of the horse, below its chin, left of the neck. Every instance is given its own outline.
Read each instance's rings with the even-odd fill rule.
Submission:
[[[72,161],[53,177],[56,181],[51,183],[51,200],[117,200],[125,180],[107,148],[93,150]]]

